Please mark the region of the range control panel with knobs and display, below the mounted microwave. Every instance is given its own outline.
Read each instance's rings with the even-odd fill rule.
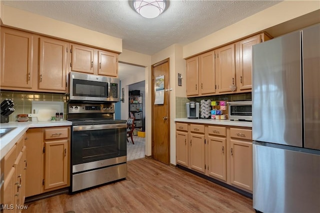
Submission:
[[[114,113],[114,105],[69,103],[68,113]]]

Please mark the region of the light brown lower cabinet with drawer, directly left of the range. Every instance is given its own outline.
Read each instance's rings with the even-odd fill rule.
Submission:
[[[70,127],[30,128],[26,132],[25,196],[68,187],[70,185]]]

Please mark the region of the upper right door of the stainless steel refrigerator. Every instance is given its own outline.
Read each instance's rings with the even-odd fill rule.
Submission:
[[[320,150],[320,24],[302,30],[304,146]]]

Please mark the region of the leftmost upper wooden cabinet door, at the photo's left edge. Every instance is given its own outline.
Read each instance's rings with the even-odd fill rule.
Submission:
[[[1,27],[1,87],[32,87],[33,36]]]

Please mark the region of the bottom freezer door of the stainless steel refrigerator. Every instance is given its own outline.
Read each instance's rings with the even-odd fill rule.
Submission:
[[[263,213],[320,212],[320,155],[252,145],[253,208]]]

